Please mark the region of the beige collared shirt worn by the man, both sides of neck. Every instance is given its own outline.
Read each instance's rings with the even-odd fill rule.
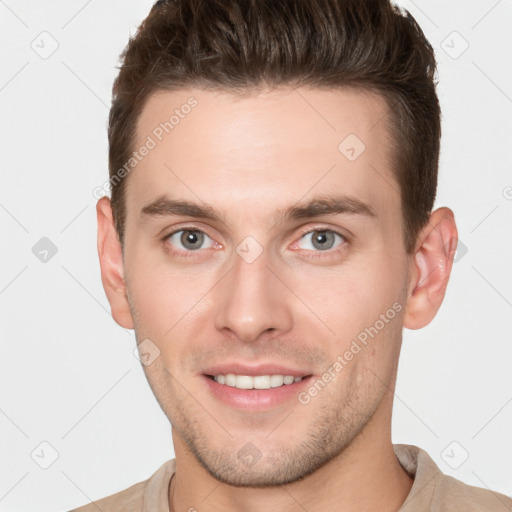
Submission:
[[[397,512],[512,512],[512,499],[444,475],[428,453],[414,445],[393,445],[402,467],[414,478]],[[144,482],[70,512],[169,512],[168,492],[175,460]]]

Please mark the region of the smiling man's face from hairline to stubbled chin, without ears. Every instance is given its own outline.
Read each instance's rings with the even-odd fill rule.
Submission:
[[[190,89],[153,95],[139,118],[136,148],[157,144],[126,190],[134,329],[160,351],[144,370],[177,453],[220,481],[295,481],[362,431],[389,436],[409,259],[385,115],[350,90]],[[141,214],[163,195],[219,218]],[[285,213],[318,198],[356,208]]]

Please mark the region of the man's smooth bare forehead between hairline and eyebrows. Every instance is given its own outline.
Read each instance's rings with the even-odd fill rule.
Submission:
[[[136,127],[134,149],[151,149],[129,175],[127,211],[170,193],[254,213],[333,189],[385,210],[399,203],[387,123],[384,98],[354,89],[155,93]]]

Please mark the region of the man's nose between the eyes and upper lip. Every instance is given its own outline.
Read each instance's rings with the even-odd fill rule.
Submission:
[[[233,269],[216,288],[215,327],[238,340],[251,343],[266,332],[275,335],[292,327],[290,292],[270,270],[263,252],[249,263],[233,255]]]

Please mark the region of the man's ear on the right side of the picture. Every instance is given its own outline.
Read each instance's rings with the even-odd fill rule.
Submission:
[[[420,329],[435,317],[444,299],[457,241],[453,212],[445,207],[432,212],[411,259],[404,327]]]

